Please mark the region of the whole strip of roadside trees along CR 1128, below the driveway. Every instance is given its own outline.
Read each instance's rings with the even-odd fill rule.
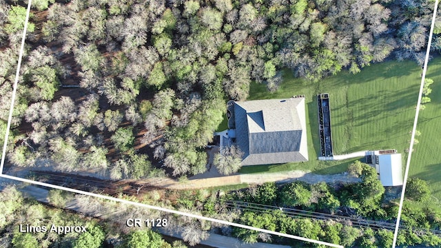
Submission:
[[[282,231],[305,238],[333,242],[345,247],[391,247],[398,214],[399,194],[390,195],[378,180],[376,170],[369,165],[360,162],[352,163],[349,165],[348,173],[359,176],[361,182],[310,185],[295,181],[285,184],[264,183],[263,185],[235,185],[194,190],[145,188],[131,194],[126,189],[119,193],[118,197],[271,231]],[[96,190],[103,189],[96,188]],[[438,247],[441,245],[439,221],[441,211],[439,207],[424,205],[431,194],[427,182],[412,178],[409,180],[407,193],[402,212],[403,228],[399,232],[398,245]],[[12,187],[1,192],[0,197],[3,199],[0,205],[6,209],[2,226],[4,235],[0,239],[2,242],[18,240],[23,236],[14,232],[14,228],[7,227],[17,226],[22,221],[19,217],[25,213],[27,216],[29,213],[33,214],[32,219],[28,218],[24,223],[34,223],[34,225],[37,223],[49,225],[55,221],[54,218],[61,218],[57,221],[64,222],[74,218],[76,223],[85,223],[85,225],[92,221],[90,218],[76,220],[78,217],[74,214],[43,207],[32,200],[23,200],[19,192]],[[101,242],[113,242],[116,247],[125,247],[124,245],[136,247],[134,242],[140,238],[150,240],[149,244],[156,244],[156,242],[163,244],[163,246],[152,245],[152,247],[181,247],[170,246],[152,231],[134,231],[133,228],[125,226],[127,218],[139,216],[167,218],[166,229],[181,234],[183,240],[189,245],[196,245],[214,233],[233,236],[249,243],[273,242],[292,247],[317,247],[298,240],[112,203],[91,196],[72,195],[58,190],[51,190],[48,199],[51,205],[57,207],[65,207],[67,203],[72,204],[71,200],[74,199],[78,211],[87,216],[102,215],[104,219],[101,222],[95,222],[96,229],[101,231],[99,234],[94,232],[90,235],[99,235],[103,237],[99,239]],[[104,216],[110,216],[110,219],[106,220]],[[49,239],[40,235],[28,238],[39,241],[39,244],[41,240],[47,240],[45,242],[48,244],[68,242],[68,240],[76,244],[78,240],[86,237],[56,236]],[[145,244],[140,247],[145,247]]]

